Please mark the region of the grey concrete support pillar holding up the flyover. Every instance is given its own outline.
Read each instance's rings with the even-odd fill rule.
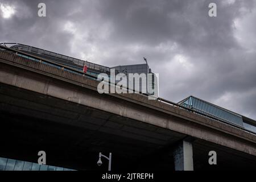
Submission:
[[[175,171],[193,171],[192,143],[183,140],[173,151]]]

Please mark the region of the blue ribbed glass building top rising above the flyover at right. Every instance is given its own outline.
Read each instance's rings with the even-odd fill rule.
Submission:
[[[233,113],[232,111],[226,110],[207,101],[203,101],[200,98],[190,96],[177,104],[195,110],[197,113],[204,114],[204,116],[216,118],[219,121],[230,123],[232,125],[241,127],[242,129],[256,133],[256,127],[243,122],[242,115]]]

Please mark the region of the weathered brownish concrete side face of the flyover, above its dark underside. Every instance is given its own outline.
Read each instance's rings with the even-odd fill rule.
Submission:
[[[256,155],[256,136],[139,94],[98,94],[97,81],[0,52],[0,82]]]

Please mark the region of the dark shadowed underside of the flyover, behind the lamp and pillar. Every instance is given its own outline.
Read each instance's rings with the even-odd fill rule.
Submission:
[[[174,170],[172,151],[187,135],[72,102],[0,84],[0,156],[82,170],[98,167],[98,152],[113,154],[113,170]],[[255,156],[195,139],[195,170],[255,169]],[[208,152],[217,152],[210,166]]]

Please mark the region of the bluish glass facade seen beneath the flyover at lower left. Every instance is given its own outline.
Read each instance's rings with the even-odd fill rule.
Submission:
[[[0,158],[0,171],[75,171],[73,169],[40,165],[22,160]]]

